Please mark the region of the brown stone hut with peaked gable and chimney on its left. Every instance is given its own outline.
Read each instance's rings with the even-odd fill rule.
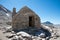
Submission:
[[[12,17],[13,30],[25,29],[27,27],[40,28],[41,26],[40,17],[27,6],[24,6],[17,13],[16,9],[13,8]]]

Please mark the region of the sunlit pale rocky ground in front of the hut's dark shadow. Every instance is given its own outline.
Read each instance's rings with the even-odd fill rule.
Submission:
[[[60,28],[51,28],[51,31],[49,27],[45,26],[45,29],[51,32],[51,36],[45,37],[44,33],[34,36],[24,31],[15,33],[11,30],[11,26],[0,26],[0,40],[60,40]]]

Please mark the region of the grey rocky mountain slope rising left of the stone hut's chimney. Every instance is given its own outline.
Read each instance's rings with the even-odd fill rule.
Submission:
[[[0,4],[0,23],[6,23],[8,21],[11,21],[11,19],[12,19],[11,11]]]

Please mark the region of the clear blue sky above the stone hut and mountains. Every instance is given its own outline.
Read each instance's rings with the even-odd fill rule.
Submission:
[[[19,11],[23,6],[28,6],[39,15],[41,22],[60,24],[60,0],[0,0],[0,4],[11,11],[13,7]]]

